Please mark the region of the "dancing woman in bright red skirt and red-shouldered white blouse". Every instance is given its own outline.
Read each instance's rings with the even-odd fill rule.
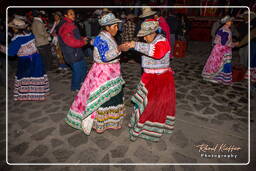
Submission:
[[[147,43],[128,42],[127,46],[141,52],[144,73],[137,92],[132,97],[132,113],[129,134],[132,141],[137,137],[159,141],[163,134],[172,133],[176,111],[176,92],[173,71],[170,68],[170,44],[156,31],[158,21],[149,19],[141,24],[138,37]]]

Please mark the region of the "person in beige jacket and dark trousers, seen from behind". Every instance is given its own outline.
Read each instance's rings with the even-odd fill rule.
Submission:
[[[45,67],[45,71],[49,71],[51,64],[52,64],[52,59],[53,55],[51,52],[51,46],[49,43],[49,33],[46,32],[46,27],[41,19],[41,13],[38,10],[33,11],[33,23],[32,23],[32,32],[35,35],[35,40],[36,40],[36,46],[37,49],[39,50],[40,55],[43,58],[43,63]]]

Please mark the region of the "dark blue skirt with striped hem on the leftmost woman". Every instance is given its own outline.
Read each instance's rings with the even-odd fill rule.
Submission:
[[[14,100],[45,100],[49,94],[48,77],[41,56],[19,57],[15,76]]]

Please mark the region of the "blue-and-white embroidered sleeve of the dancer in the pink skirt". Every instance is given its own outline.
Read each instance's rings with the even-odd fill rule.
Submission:
[[[104,36],[97,36],[93,45],[97,48],[103,62],[111,61],[121,54],[121,52],[117,49],[117,45]]]

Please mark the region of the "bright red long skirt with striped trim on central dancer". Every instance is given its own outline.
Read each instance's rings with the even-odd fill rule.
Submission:
[[[138,137],[159,141],[163,134],[172,133],[176,111],[173,72],[171,70],[161,74],[144,72],[132,102],[134,113],[129,124],[132,141]]]

